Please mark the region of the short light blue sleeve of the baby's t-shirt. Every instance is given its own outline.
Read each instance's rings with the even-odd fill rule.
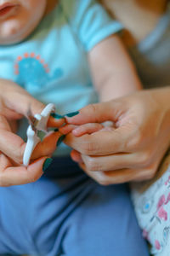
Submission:
[[[87,51],[123,28],[94,0],[61,0],[61,3],[68,22]]]

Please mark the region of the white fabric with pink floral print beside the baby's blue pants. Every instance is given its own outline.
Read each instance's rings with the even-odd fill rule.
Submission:
[[[151,253],[170,252],[170,153],[150,182],[132,184],[133,205],[139,225],[151,245]]]

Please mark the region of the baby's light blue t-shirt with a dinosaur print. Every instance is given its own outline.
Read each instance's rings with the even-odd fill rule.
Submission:
[[[57,113],[75,111],[98,101],[88,51],[120,30],[94,0],[61,0],[25,41],[0,46],[0,78],[54,102]]]

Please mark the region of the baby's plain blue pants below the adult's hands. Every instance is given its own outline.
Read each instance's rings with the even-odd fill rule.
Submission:
[[[68,158],[36,183],[0,188],[0,255],[149,255],[127,186],[101,186]]]

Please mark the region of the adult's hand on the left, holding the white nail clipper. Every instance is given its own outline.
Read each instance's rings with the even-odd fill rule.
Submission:
[[[26,143],[14,133],[16,122],[31,113],[41,113],[45,106],[30,96],[26,90],[11,81],[0,79],[0,186],[31,183],[42,176],[42,167],[54,152],[60,137],[51,132],[42,143],[38,143],[31,156],[31,164],[22,166]],[[48,126],[58,127],[64,119],[50,117]],[[46,163],[45,163],[46,161]]]

